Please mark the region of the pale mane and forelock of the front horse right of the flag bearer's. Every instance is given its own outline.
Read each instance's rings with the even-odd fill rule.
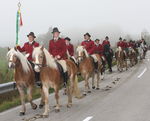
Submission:
[[[34,48],[32,56],[35,57],[36,54],[40,54],[42,52],[41,47]],[[51,68],[57,68],[55,59],[53,56],[47,51],[47,49],[43,48],[43,52],[45,54],[46,65]]]

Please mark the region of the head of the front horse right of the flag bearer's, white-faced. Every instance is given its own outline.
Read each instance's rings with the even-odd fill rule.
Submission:
[[[40,72],[40,68],[45,64],[44,47],[40,46],[34,48],[32,58],[33,58],[33,63],[35,64],[34,70],[36,72]]]

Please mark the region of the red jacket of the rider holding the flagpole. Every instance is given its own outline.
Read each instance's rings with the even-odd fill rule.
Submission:
[[[39,46],[39,43],[35,41],[33,41],[32,44],[29,44],[29,42],[26,42],[22,48],[20,46],[17,46],[17,49],[20,52],[25,52],[26,54],[29,54],[29,57],[27,59],[29,61],[33,61],[32,59],[33,47],[38,47],[38,46]]]

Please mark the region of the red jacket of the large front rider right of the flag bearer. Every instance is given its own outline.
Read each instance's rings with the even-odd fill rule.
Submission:
[[[60,59],[66,59],[67,55],[67,47],[65,40],[59,38],[57,41],[50,40],[49,42],[49,53],[53,55],[53,57],[60,56]]]

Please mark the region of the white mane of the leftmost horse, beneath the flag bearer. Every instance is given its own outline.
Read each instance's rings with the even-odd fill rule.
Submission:
[[[30,71],[29,66],[31,66],[31,64],[29,63],[27,58],[21,52],[15,50],[14,48],[10,49],[10,51],[7,53],[7,57],[10,57],[12,54],[16,55],[17,58],[20,60],[23,71],[26,73],[29,72]]]

